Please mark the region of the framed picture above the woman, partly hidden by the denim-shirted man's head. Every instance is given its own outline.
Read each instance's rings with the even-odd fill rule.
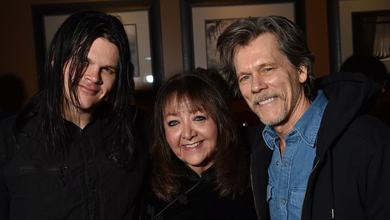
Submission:
[[[280,15],[305,31],[304,0],[197,1],[180,0],[183,70],[220,68],[216,42],[231,23],[245,17]]]

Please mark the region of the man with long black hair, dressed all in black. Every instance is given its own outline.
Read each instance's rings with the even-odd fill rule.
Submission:
[[[116,16],[71,15],[40,90],[0,123],[0,219],[132,219],[148,120],[132,106],[129,42]]]

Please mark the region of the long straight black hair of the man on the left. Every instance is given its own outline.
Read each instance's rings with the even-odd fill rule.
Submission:
[[[75,13],[57,30],[46,56],[44,70],[38,76],[39,91],[22,109],[14,125],[16,142],[28,120],[37,117],[47,153],[66,150],[64,66],[70,63],[68,89],[72,104],[78,105],[77,83],[82,77],[88,50],[97,38],[103,38],[119,49],[116,78],[107,101],[113,104],[112,113],[120,118],[116,125],[115,143],[123,147],[126,161],[132,160],[131,122],[134,114],[130,112],[130,95],[134,67],[130,62],[129,41],[119,17],[98,11]]]

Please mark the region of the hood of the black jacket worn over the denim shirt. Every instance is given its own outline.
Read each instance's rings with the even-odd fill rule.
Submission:
[[[318,132],[317,156],[323,158],[338,135],[359,114],[371,109],[380,86],[357,72],[340,72],[317,79],[329,100]]]

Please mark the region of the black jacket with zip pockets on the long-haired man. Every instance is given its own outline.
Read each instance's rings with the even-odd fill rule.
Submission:
[[[11,136],[15,117],[0,123],[0,219],[132,219],[145,173],[148,118],[134,107],[135,166],[128,169],[113,143],[116,122],[101,104],[81,130],[65,122],[67,150],[48,156],[37,118],[23,128],[17,148]],[[139,203],[138,203],[139,204]]]

